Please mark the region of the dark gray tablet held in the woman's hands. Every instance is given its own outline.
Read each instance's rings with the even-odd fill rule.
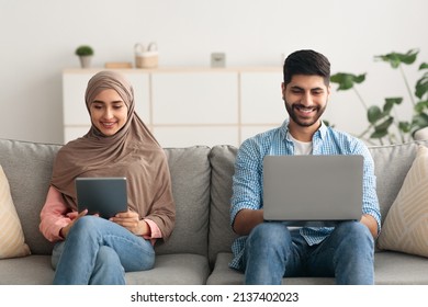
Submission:
[[[126,178],[77,178],[78,211],[110,218],[127,211]]]

